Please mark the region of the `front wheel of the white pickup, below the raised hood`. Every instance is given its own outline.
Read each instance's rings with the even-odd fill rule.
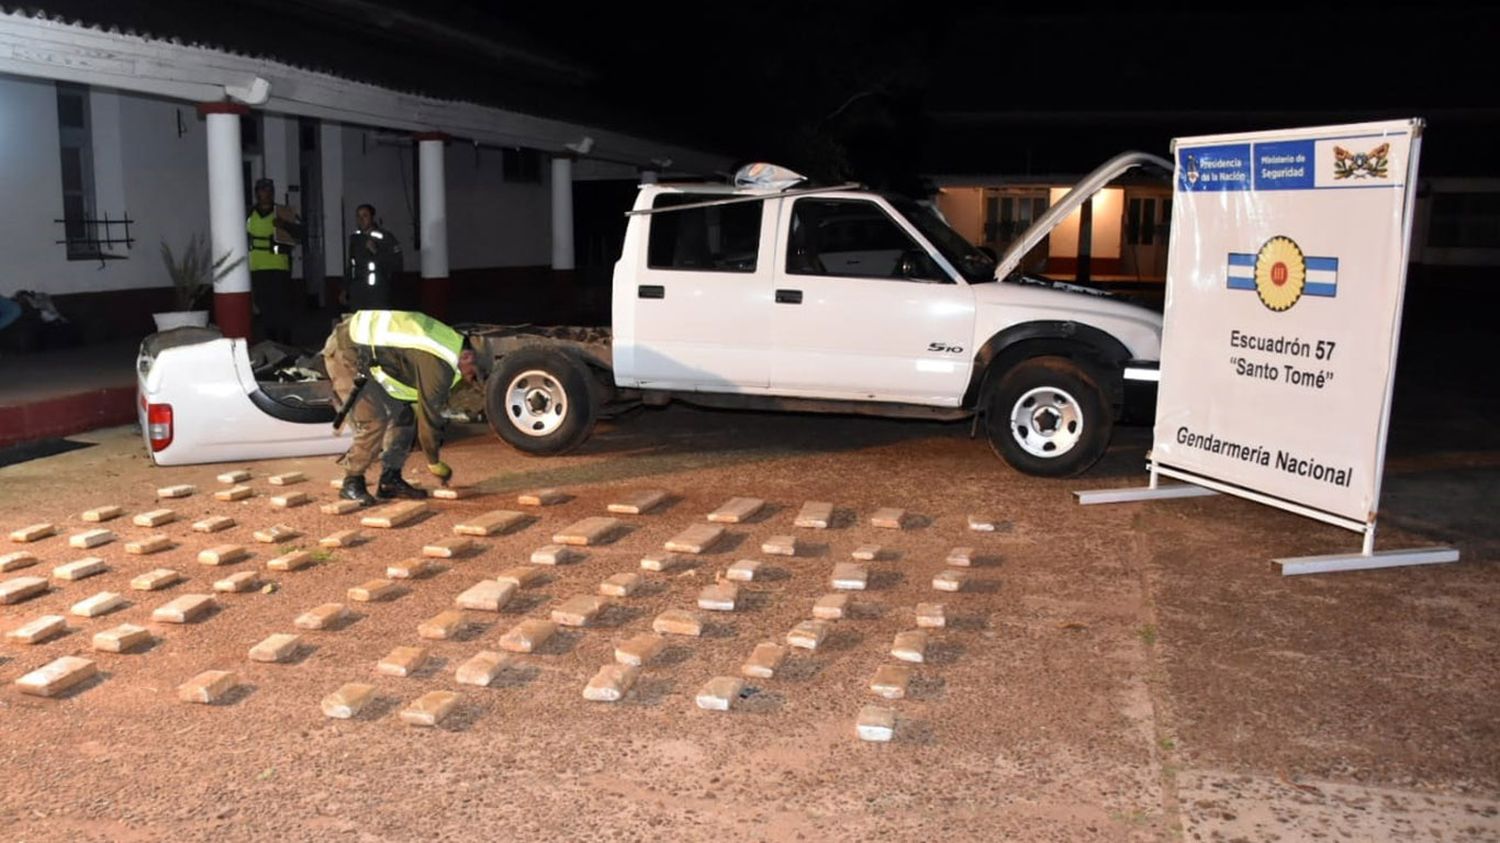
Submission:
[[[1114,424],[1104,390],[1066,357],[1032,357],[984,400],[990,447],[1023,474],[1072,477],[1104,456]]]

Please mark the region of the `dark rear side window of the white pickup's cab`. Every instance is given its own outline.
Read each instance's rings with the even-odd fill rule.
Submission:
[[[716,194],[662,194],[654,208],[723,200]],[[754,272],[764,202],[732,202],[651,214],[646,266],[654,270]]]

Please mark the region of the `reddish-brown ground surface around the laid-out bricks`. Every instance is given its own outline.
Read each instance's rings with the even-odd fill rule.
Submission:
[[[0,526],[54,520],[66,536],[84,530],[88,507],[140,513],[172,483],[198,494],[162,504],[182,516],[159,530],[177,548],[126,555],[124,540],[153,531],[114,520],[105,526],[120,542],[94,552],[108,573],[0,608],[8,632],[99,591],[130,602],[69,616],[51,642],[0,645],[0,826],[8,840],[1500,840],[1500,448],[1492,432],[1434,436],[1432,424],[1413,411],[1395,430],[1378,546],[1452,543],[1462,561],[1286,579],[1270,556],[1353,550],[1358,537],[1232,498],[1074,504],[1072,489],[1143,480],[1142,429],[1122,430],[1082,482],[1046,482],[1005,468],[966,424],[670,408],[602,426],[560,459],[520,456],[474,428],[446,453],[482,496],[435,502],[432,518],[368,531],[369,543],[303,572],[264,572],[279,548],[256,544],[228,570],[261,570],[276,590],[220,596],[213,616],[180,627],[150,614],[226,573],[200,566],[200,549],[250,546],[276,522],[304,532],[291,546],[312,546],[357,516],[270,508],[266,478],[288,470],[310,477],[297,489],[332,500],[328,459],[249,465],[256,496],[225,504],[212,498],[214,476],[232,466],[152,468],[135,430],[104,430],[82,436],[94,447],[0,470]],[[294,663],[246,658],[465,516],[522,508],[516,494],[544,486],[572,498],[528,510],[528,526],[393,602],[351,604],[352,624],[303,633]],[[624,536],[550,570],[500,615],[466,612],[470,630],[430,642],[418,675],[375,675],[392,648],[422,644],[417,624],[458,592],[636,489],[672,496],[621,516]],[[696,567],[646,574],[648,588],[598,626],[519,657],[489,688],[456,684],[454,668],[520,618],[638,570],[736,495],[768,507]],[[836,504],[830,530],[792,526],[810,500]],[[868,525],[891,506],[912,514],[906,530]],[[238,525],[190,532],[207,514]],[[1000,530],[972,532],[969,514]],[[759,552],[789,532],[796,556]],[[738,675],[756,644],[808,618],[832,564],[866,543],[891,552],[868,564],[856,616],[753,681],[732,711],[696,708],[705,681]],[[948,550],[964,544],[981,556],[969,586],[933,591]],[[86,555],[62,537],[30,549],[42,566],[8,578]],[[746,606],[716,614],[700,639],[672,639],[624,700],[582,699],[615,642],[692,608],[740,558],[771,567],[744,586]],[[186,582],[129,591],[156,567]],[[909,696],[888,704],[896,741],[862,742],[855,717],[880,702],[870,678],[914,628],[918,602],[945,603],[950,626]],[[93,633],[120,622],[146,626],[154,644],[94,654]],[[22,674],[68,654],[94,658],[102,678],[60,699],[16,692]],[[178,702],[176,687],[206,669],[236,670],[242,687],[220,705]],[[374,682],[376,702],[326,718],[320,699],[351,681]],[[404,724],[399,710],[430,690],[458,692],[456,712],[436,729]]]

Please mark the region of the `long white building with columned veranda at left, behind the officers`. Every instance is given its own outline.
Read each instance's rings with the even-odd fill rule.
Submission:
[[[210,46],[0,14],[0,294],[48,292],[94,339],[141,336],[150,312],[172,309],[160,243],[180,249],[202,234],[214,255],[243,255],[260,177],[308,224],[292,274],[312,297],[342,274],[354,208],[369,202],[406,244],[422,303],[446,315],[447,300],[488,294],[476,285],[573,270],[576,183],[634,183],[668,160],[681,172],[729,164]],[[248,268],[214,294],[219,326],[242,333]]]

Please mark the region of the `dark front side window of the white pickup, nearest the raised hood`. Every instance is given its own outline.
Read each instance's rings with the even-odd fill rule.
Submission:
[[[796,200],[788,274],[945,280],[927,250],[873,202]]]

